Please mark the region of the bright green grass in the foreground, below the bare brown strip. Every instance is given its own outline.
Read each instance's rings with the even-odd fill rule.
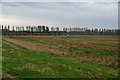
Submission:
[[[17,78],[115,78],[117,76],[115,69],[81,62],[69,54],[31,51],[14,43],[8,43],[19,49],[3,43],[3,71]],[[70,49],[78,51],[75,47]]]

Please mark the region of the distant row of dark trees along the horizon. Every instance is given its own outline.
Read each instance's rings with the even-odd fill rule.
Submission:
[[[120,29],[88,29],[88,28],[63,28],[38,26],[6,26],[0,25],[2,33],[67,33],[73,35],[119,35]]]

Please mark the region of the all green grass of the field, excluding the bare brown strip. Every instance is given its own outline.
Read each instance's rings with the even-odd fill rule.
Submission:
[[[4,40],[2,46],[2,69],[8,75],[17,78],[117,78],[118,76],[117,68],[112,67],[114,66],[114,64],[110,64],[109,66],[106,66],[104,64],[98,64],[99,61],[103,62],[104,60],[107,60],[104,58],[112,57],[111,59],[115,60],[117,57],[117,51],[111,52],[104,49],[91,49],[89,47],[82,48],[77,47],[77,44],[75,44],[78,43],[82,45],[89,45],[83,44],[82,42],[96,41],[96,44],[93,45],[98,46],[97,43],[100,43],[100,40],[103,40],[103,42],[108,40],[110,41],[111,39],[116,39],[115,36],[9,36],[9,38],[18,39],[22,41],[29,41],[31,43],[35,42],[38,44],[56,46],[63,49],[63,51],[67,50],[69,54],[63,55],[47,51],[32,51],[23,48],[20,45]],[[77,39],[80,39],[80,41],[77,41]],[[49,42],[49,40],[53,41]],[[68,44],[64,44],[62,42],[68,42]],[[70,43],[74,44],[69,45]],[[107,44],[108,43],[106,43],[106,45]],[[18,49],[11,46],[17,47]],[[115,46],[111,45],[110,48],[112,47]],[[71,53],[74,55],[71,55]],[[99,53],[99,55],[96,55],[97,53]],[[92,55],[94,55],[93,57],[98,57],[98,59],[94,58],[92,60],[89,60],[89,57],[92,57]],[[88,60],[80,60],[79,57],[82,56],[87,57]],[[95,63],[97,60],[98,63]],[[110,63],[110,61],[107,61],[107,63]]]

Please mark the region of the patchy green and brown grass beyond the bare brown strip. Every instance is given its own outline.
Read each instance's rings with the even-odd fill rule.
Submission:
[[[100,38],[98,38],[98,37],[100,37]],[[71,45],[65,45],[65,44],[58,43],[58,42],[56,42],[56,43],[55,42],[50,43],[50,42],[44,41],[44,39],[48,39],[49,40],[49,38],[50,38],[50,40],[54,40],[53,37],[34,37],[34,38],[33,37],[10,37],[10,38],[19,39],[19,40],[23,40],[23,41],[35,42],[35,43],[39,43],[39,44],[51,45],[51,46],[56,46],[56,47],[58,47],[58,45],[61,45],[62,49],[67,49],[70,52],[80,51],[80,52],[86,53],[86,54],[101,53],[102,55],[106,55],[106,56],[118,56],[118,51],[111,52],[111,51],[104,50],[104,49],[103,50],[99,50],[99,49],[91,49],[91,48],[81,48],[81,47],[74,47],[74,46],[71,46]],[[63,40],[61,40],[61,38],[63,38]],[[66,38],[70,38],[70,39],[66,39]],[[86,36],[67,36],[67,37],[63,36],[63,37],[57,37],[57,38],[55,38],[55,40],[56,41],[63,41],[63,42],[64,41],[71,42],[71,40],[75,41],[74,39],[79,39],[79,38],[82,39],[81,41],[85,40],[87,42],[89,42],[89,41],[93,42],[96,39],[99,39],[99,40],[101,40],[101,38],[105,39],[106,36],[87,36],[87,35]],[[108,36],[108,38],[111,38],[111,37]],[[80,44],[82,44],[82,42]],[[88,44],[83,44],[83,45],[88,45]],[[92,45],[98,46],[98,44],[92,44]],[[101,46],[105,46],[105,45],[101,45]],[[117,47],[117,45],[115,45],[115,46]]]

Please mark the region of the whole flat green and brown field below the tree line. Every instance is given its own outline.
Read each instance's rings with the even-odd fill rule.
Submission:
[[[118,36],[3,36],[3,78],[116,78]]]

